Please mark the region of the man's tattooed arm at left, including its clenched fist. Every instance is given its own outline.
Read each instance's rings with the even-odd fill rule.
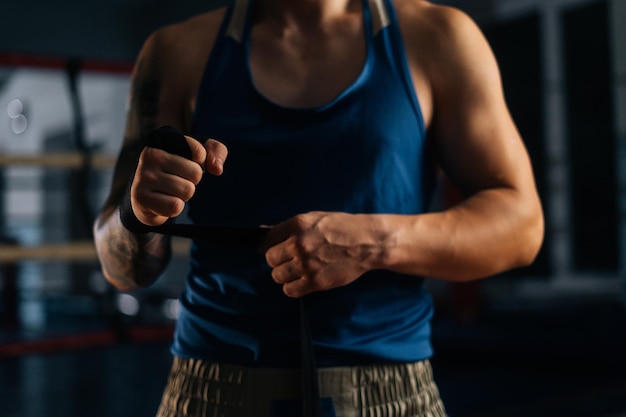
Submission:
[[[178,216],[195,193],[203,172],[221,175],[226,147],[186,136],[192,159],[146,147],[143,140],[160,126],[186,132],[211,45],[225,8],[165,26],[145,42],[133,73],[124,142],[110,195],[94,223],[96,249],[109,282],[122,290],[154,282],[171,257],[167,236],[133,234],[119,218],[130,179],[137,219],[162,224]]]

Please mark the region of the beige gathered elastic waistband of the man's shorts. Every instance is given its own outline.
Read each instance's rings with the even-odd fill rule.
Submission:
[[[320,368],[318,380],[321,400],[337,416],[445,416],[428,360]],[[270,417],[274,407],[301,404],[301,398],[299,369],[175,356],[158,417]]]

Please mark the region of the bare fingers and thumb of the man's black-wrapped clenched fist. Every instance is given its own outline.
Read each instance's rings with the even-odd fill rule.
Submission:
[[[192,158],[146,147],[139,156],[131,186],[131,205],[137,219],[148,226],[163,224],[182,213],[204,171],[221,175],[228,150],[213,139],[204,145],[185,136]]]

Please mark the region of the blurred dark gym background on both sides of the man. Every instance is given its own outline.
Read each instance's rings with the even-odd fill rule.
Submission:
[[[440,1],[481,26],[546,212],[536,263],[432,281],[451,417],[626,416],[626,0]],[[105,283],[91,223],[155,28],[222,3],[0,1],[0,416],[153,416],[186,243]]]

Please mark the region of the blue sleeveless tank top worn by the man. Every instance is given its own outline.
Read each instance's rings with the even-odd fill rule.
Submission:
[[[189,202],[196,223],[271,225],[309,211],[423,213],[434,188],[425,128],[395,11],[363,0],[366,61],[339,96],[287,108],[256,90],[249,67],[254,2],[227,10],[197,96],[192,134],[229,149]],[[241,29],[239,30],[238,27]],[[423,279],[379,270],[308,296],[319,366],[431,355]],[[298,301],[262,255],[195,241],[172,351],[247,366],[297,367]]]

